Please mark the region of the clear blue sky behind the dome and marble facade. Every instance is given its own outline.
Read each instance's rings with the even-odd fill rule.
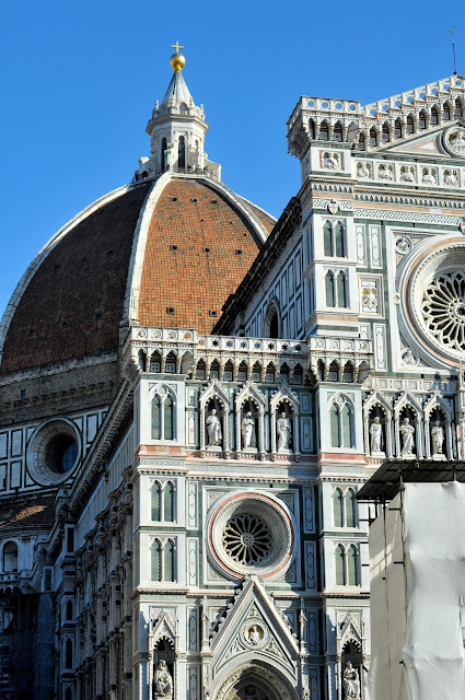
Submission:
[[[66,221],[129,182],[147,120],[172,75],[204,103],[206,150],[225,183],[275,215],[299,190],[286,121],[300,95],[372,102],[465,72],[465,3],[3,3],[0,314]]]

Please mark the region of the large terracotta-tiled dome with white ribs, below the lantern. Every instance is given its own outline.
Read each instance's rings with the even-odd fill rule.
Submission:
[[[0,328],[0,372],[115,351],[123,320],[210,332],[272,224],[195,176],[166,173],[97,200],[20,281]]]

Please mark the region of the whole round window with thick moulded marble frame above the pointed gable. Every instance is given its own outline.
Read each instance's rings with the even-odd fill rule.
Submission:
[[[229,578],[271,576],[289,565],[293,527],[284,508],[261,493],[222,501],[208,523],[209,553]]]

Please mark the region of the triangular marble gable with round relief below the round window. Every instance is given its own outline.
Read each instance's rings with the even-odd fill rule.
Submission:
[[[298,640],[265,587],[251,578],[220,622],[210,644],[214,675],[234,658],[252,656],[280,664],[294,675]]]

